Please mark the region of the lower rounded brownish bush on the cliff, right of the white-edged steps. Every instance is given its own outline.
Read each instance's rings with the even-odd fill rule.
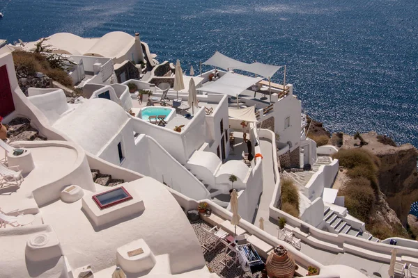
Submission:
[[[376,195],[368,179],[364,177],[351,179],[339,194],[345,197],[345,206],[350,215],[363,222],[369,220],[369,215],[376,202]]]

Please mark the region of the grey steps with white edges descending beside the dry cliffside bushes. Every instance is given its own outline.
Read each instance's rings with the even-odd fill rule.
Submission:
[[[330,231],[334,234],[348,234],[365,240],[374,242],[379,241],[379,239],[375,238],[372,234],[351,227],[350,224],[344,221],[343,218],[340,218],[329,206],[325,206],[324,221],[327,223],[327,227],[329,227]]]

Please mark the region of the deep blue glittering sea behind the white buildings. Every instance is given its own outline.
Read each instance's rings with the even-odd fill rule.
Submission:
[[[330,131],[418,147],[417,0],[0,0],[0,12],[9,42],[139,31],[157,60],[183,70],[215,50],[286,65],[304,111]]]

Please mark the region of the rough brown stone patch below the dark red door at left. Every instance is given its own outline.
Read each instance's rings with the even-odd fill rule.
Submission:
[[[7,127],[8,142],[47,140],[39,135],[38,130],[33,129],[31,120],[26,117],[15,117],[5,126]]]

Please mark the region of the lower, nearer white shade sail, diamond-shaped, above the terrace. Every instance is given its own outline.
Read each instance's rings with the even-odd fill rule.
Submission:
[[[240,95],[241,92],[247,90],[258,81],[261,81],[262,78],[258,77],[249,77],[241,74],[233,74],[227,72],[219,78],[217,81],[208,83],[208,85],[198,88],[196,90],[203,92],[216,92],[217,94],[230,95],[235,97]]]

